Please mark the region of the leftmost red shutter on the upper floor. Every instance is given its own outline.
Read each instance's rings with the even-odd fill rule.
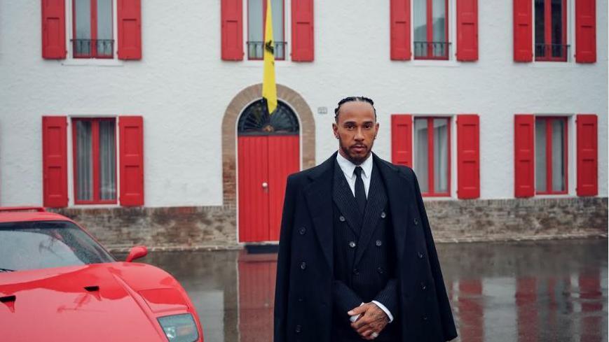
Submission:
[[[42,57],[66,57],[65,0],[42,0]]]

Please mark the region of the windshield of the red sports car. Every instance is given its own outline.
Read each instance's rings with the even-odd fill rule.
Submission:
[[[114,261],[72,222],[0,223],[0,272]]]

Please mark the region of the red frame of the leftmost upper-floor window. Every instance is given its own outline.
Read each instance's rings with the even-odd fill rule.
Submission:
[[[71,0],[71,26],[72,26],[72,36],[70,39],[71,44],[71,57],[74,59],[114,59],[114,55],[116,53],[116,39],[114,38],[114,25],[116,24],[116,15],[114,8],[114,0],[110,0],[110,12],[111,12],[111,20],[110,29],[112,31],[112,54],[111,55],[97,55],[97,0],[89,0],[90,1],[90,30],[91,37],[89,38],[91,41],[90,54],[78,54],[76,53],[76,49],[74,48],[74,41],[76,40],[76,0]],[[94,43],[95,42],[95,43]]]

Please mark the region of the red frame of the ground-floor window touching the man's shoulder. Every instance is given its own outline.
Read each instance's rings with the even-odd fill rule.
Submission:
[[[434,116],[427,116],[427,115],[421,115],[421,116],[413,116],[412,117],[412,136],[414,138],[414,127],[415,127],[415,120],[423,120],[426,119],[427,120],[427,184],[429,185],[428,187],[428,191],[427,192],[423,192],[421,191],[421,195],[423,195],[423,197],[451,197],[451,173],[452,173],[452,140],[451,140],[451,126],[453,123],[452,117],[449,116],[439,116],[439,115],[434,115]],[[446,171],[447,171],[447,184],[448,184],[448,188],[446,190],[446,192],[436,192],[435,191],[435,183],[434,183],[434,127],[433,127],[433,122],[434,119],[446,119],[446,127],[447,127],[447,136],[446,136],[446,143],[448,144],[448,150],[446,151],[446,154],[448,155],[448,165],[446,166]],[[413,164],[413,169],[416,168],[416,157],[415,157],[415,153],[417,150],[417,146],[416,146],[416,141],[413,141],[413,155],[412,155],[412,164]]]

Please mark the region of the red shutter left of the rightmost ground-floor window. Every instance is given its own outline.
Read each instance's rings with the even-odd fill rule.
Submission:
[[[535,195],[535,115],[514,116],[514,192]]]

